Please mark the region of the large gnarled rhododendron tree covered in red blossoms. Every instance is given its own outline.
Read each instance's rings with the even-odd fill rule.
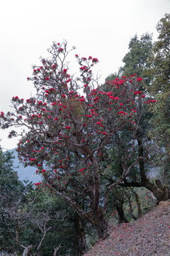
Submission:
[[[145,106],[154,100],[147,101],[138,90],[142,78],[135,74],[107,81],[106,88],[98,85],[92,73],[98,58],[76,54],[79,75],[70,75],[66,41],[53,43],[48,52],[50,58],[41,58],[27,78],[34,82],[37,94],[27,100],[13,97],[14,112],[1,112],[1,128],[23,128],[18,156],[42,174],[42,182],[35,185],[47,186],[52,196],[62,196],[81,218],[94,225],[99,238],[106,238],[108,193],[140,161],[134,156],[135,135]],[[103,153],[113,148],[114,134],[125,128],[132,140],[122,156],[123,171],[113,182],[106,180],[101,196],[101,176],[108,170]],[[17,135],[13,130],[8,137]],[[128,164],[132,156],[134,161]]]

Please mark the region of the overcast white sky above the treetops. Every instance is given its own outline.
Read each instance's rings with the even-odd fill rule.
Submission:
[[[153,33],[157,40],[157,22],[169,11],[170,0],[1,1],[0,112],[10,110],[11,97],[33,93],[26,78],[40,55],[47,56],[52,41],[67,39],[77,47],[74,54],[98,58],[103,82],[122,65],[135,33]],[[0,130],[0,144],[12,149],[17,142],[6,139],[7,134]]]

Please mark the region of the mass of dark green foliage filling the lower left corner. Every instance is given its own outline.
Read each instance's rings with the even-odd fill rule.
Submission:
[[[40,255],[50,256],[54,247],[59,246],[60,255],[74,255],[74,210],[62,198],[52,197],[48,189],[35,190],[31,183],[18,181],[16,171],[13,171],[13,155],[2,150],[0,189],[0,252],[21,255],[21,245],[33,245],[32,252],[37,253],[43,236],[40,229],[45,228],[47,233]]]

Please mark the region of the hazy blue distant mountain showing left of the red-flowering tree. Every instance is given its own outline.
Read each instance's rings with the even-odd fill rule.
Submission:
[[[26,181],[33,181],[33,183],[36,183],[42,180],[41,176],[35,173],[36,171],[35,167],[33,166],[24,167],[23,164],[19,162],[18,153],[16,149],[11,149],[8,151],[11,153],[13,152],[13,156],[15,156],[15,159],[13,159],[13,167],[14,167],[13,169],[17,171],[18,178],[20,181],[26,180]]]

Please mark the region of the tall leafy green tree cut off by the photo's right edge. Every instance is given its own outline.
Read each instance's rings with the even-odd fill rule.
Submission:
[[[164,176],[163,181],[169,184],[170,14],[165,14],[164,18],[160,19],[157,24],[157,31],[159,36],[152,48],[153,56],[149,58],[151,67],[148,70],[148,74],[154,77],[148,90],[157,100],[157,105],[151,108],[153,117],[150,136],[157,142],[160,151],[163,148],[160,159]]]

